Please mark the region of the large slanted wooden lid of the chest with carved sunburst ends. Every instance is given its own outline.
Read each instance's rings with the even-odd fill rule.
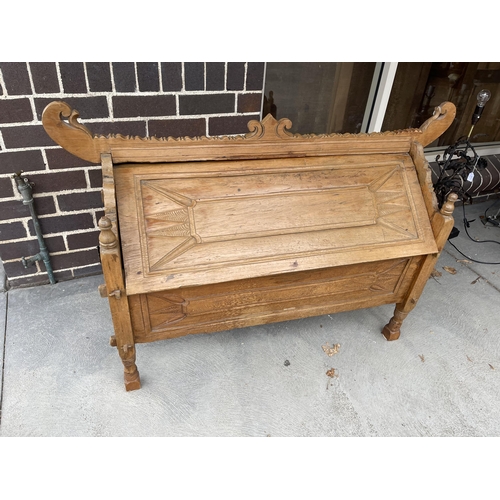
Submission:
[[[120,166],[127,290],[436,252],[409,165],[408,155],[353,155]]]

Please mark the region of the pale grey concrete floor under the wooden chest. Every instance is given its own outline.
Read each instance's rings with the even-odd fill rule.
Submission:
[[[470,232],[500,241],[487,206],[467,207]],[[455,214],[453,243],[500,262]],[[398,341],[382,306],[141,344],[130,393],[102,276],[2,293],[0,435],[500,436],[500,266],[463,259],[448,243]]]

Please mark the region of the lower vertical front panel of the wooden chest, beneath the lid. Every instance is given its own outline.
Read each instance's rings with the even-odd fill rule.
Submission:
[[[401,300],[422,257],[129,296],[136,342],[349,311]],[[307,300],[304,298],[307,297]]]

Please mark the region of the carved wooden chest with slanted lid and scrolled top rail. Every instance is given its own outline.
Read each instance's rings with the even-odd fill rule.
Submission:
[[[420,129],[299,135],[268,115],[245,136],[146,139],[94,136],[49,104],[50,137],[102,165],[100,292],[126,389],[141,342],[390,303],[397,339],[453,227],[423,147],[454,116],[443,103]]]

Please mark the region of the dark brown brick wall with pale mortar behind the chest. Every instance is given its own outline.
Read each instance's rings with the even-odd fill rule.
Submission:
[[[11,287],[47,283],[28,208],[12,175],[24,171],[57,280],[101,272],[101,169],[66,153],[41,125],[62,99],[96,134],[241,134],[260,119],[263,63],[0,63],[0,258]]]

